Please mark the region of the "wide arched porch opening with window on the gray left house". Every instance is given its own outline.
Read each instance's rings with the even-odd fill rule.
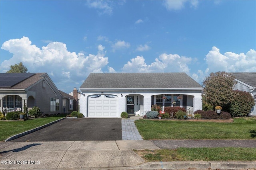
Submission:
[[[17,95],[8,95],[3,98],[3,107],[13,110],[15,107],[22,108],[22,98]]]

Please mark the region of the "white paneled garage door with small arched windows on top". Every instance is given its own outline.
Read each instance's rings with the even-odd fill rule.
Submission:
[[[118,117],[117,96],[99,94],[88,98],[88,117]]]

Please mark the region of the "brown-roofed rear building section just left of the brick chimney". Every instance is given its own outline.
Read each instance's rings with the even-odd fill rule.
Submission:
[[[63,102],[62,102],[62,113],[72,113],[72,111],[76,111],[74,108],[74,104],[76,103],[76,100],[73,96],[66,94],[65,92],[62,92],[61,90],[60,94],[63,96]]]

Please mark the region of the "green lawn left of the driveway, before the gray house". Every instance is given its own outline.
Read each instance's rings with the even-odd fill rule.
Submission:
[[[8,137],[45,125],[65,116],[66,114],[60,114],[26,121],[0,121],[0,141],[4,141]]]

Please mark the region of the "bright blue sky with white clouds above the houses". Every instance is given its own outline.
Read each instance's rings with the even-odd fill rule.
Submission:
[[[256,72],[256,1],[0,1],[0,72],[71,92],[91,72]]]

